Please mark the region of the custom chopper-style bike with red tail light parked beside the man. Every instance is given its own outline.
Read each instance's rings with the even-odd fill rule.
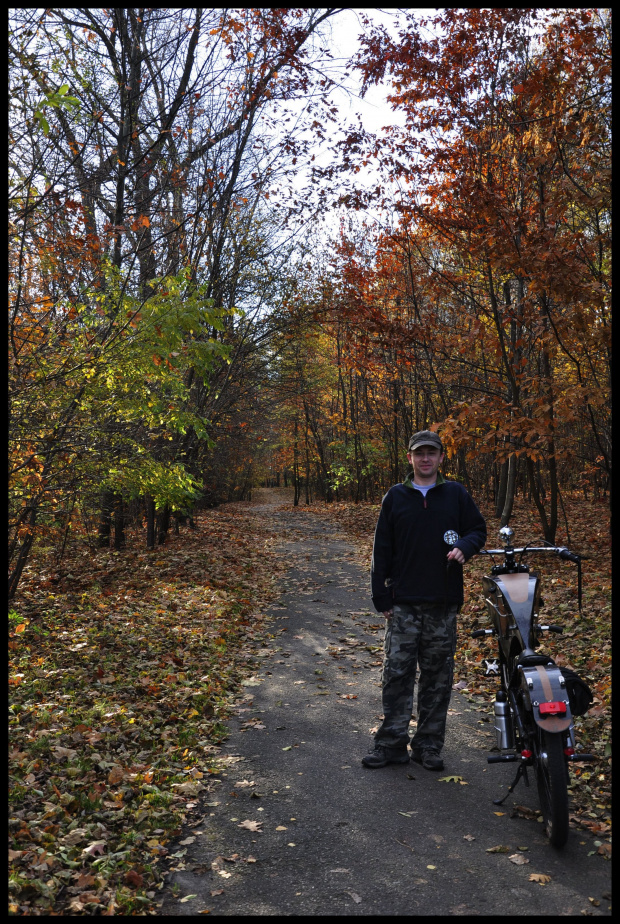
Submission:
[[[497,662],[487,673],[497,673],[500,689],[495,699],[497,747],[503,753],[487,758],[488,763],[517,761],[517,775],[502,799],[513,792],[521,778],[529,786],[527,768],[534,771],[545,832],[551,844],[562,847],[568,838],[569,764],[596,757],[576,749],[573,718],[584,715],[592,705],[592,693],[574,672],[559,668],[548,655],[537,654],[543,632],[561,633],[563,626],[538,622],[543,605],[540,575],[531,571],[524,557],[531,553],[554,553],[574,562],[578,568],[578,604],[581,611],[581,561],[585,556],[565,546],[525,545],[515,548],[513,530],[499,531],[501,549],[482,549],[480,555],[502,555],[482,578],[485,605],[492,629],[477,629],[472,638],[496,635]],[[519,560],[517,561],[517,556]]]

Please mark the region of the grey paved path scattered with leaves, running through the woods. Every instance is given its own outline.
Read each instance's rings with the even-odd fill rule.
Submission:
[[[487,766],[490,716],[465,697],[453,695],[443,773],[362,767],[380,720],[383,620],[351,543],[326,518],[282,509],[283,495],[250,505],[291,563],[273,637],[249,654],[204,816],[170,846],[181,855],[160,913],[609,915],[611,864],[588,833],[571,829],[558,852],[534,818],[511,817],[537,807],[535,787],[493,804],[513,770]]]

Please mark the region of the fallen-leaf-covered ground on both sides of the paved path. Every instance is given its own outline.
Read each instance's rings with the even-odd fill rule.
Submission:
[[[565,503],[570,547],[590,556],[584,605],[579,614],[573,566],[545,560],[544,615],[565,625],[545,650],[594,692],[576,726],[599,759],[571,768],[572,823],[609,857],[609,531],[603,505]],[[369,565],[376,505],[287,509],[331,517]],[[512,524],[519,541],[539,535],[523,505]],[[498,524],[488,516],[488,525],[492,543]],[[167,866],[186,849],[184,826],[225,771],[227,717],[252,699],[265,609],[287,568],[278,538],[236,503],[154,551],[130,534],[122,552],[77,547],[61,567],[44,552],[32,558],[9,613],[10,913],[156,913]],[[485,625],[484,567],[467,567],[455,674],[459,694],[481,708],[496,686],[482,666],[491,643],[469,637]]]

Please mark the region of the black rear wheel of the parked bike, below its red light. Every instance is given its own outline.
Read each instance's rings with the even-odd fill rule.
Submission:
[[[554,847],[568,839],[568,770],[561,734],[538,729],[536,782],[547,837]]]

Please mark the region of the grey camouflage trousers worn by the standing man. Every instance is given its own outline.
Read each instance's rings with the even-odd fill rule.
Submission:
[[[383,723],[375,745],[403,747],[409,741],[413,688],[419,665],[418,725],[411,747],[441,751],[452,693],[458,606],[396,604],[385,629]]]

